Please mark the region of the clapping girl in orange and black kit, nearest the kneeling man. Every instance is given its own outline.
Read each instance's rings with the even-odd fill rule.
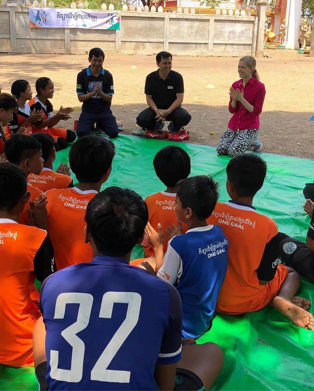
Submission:
[[[49,99],[54,94],[54,84],[49,77],[40,77],[36,81],[36,92],[37,95],[29,101],[31,110],[40,111],[43,114],[42,121],[38,121],[34,124],[39,131],[43,131],[48,135],[51,135],[55,142],[58,143],[60,149],[65,149],[67,143],[73,142],[76,139],[76,134],[69,129],[61,129],[54,127],[60,120],[67,121],[70,113],[73,109],[71,107],[60,108],[58,113],[52,115],[53,107]]]

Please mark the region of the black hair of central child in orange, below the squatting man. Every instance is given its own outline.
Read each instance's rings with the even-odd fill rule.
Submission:
[[[153,166],[156,175],[167,187],[175,187],[180,179],[188,178],[191,172],[189,155],[176,145],[167,145],[158,151]]]

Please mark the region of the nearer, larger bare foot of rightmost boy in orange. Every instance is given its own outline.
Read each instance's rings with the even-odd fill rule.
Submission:
[[[286,300],[280,296],[276,296],[273,300],[274,308],[278,310],[281,314],[286,316],[291,322],[301,328],[307,328],[308,330],[314,330],[313,315],[303,310],[303,308],[298,307],[297,305],[291,303],[291,301]]]

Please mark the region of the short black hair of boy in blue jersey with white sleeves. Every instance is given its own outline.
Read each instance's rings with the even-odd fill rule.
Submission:
[[[191,208],[199,220],[206,220],[213,213],[219,193],[218,182],[206,175],[182,179],[176,186],[183,208]]]

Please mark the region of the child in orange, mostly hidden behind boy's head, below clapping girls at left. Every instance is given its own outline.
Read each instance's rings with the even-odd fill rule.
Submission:
[[[44,193],[50,189],[65,189],[73,187],[70,177],[70,168],[67,164],[61,163],[57,172],[52,170],[52,164],[56,160],[56,150],[52,136],[47,133],[34,133],[33,135],[42,145],[43,169],[39,175],[30,174],[27,180],[38,187]]]

